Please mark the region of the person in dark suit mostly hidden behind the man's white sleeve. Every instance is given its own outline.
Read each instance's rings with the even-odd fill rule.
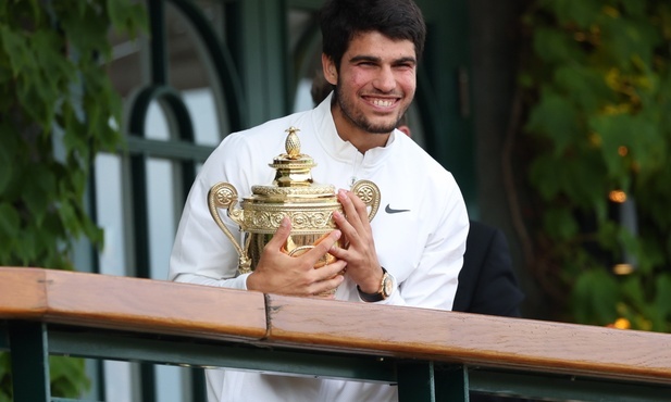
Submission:
[[[452,311],[522,316],[520,303],[524,294],[512,272],[504,233],[471,219],[465,244]]]

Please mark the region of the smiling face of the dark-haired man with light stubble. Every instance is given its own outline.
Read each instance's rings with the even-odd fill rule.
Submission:
[[[362,33],[343,54],[339,72],[330,59],[323,61],[326,79],[336,85],[338,131],[388,134],[396,127],[417,87],[412,41]]]

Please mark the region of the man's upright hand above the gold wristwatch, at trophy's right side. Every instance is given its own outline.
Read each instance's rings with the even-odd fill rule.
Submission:
[[[361,291],[375,293],[384,275],[377,261],[373,230],[365,204],[353,192],[339,190],[338,201],[343,212],[334,212],[333,217],[346,240],[343,249],[332,250],[331,254],[347,262],[347,275],[359,285]]]

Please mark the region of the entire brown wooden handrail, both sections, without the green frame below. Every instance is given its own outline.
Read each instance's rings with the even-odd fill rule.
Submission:
[[[671,384],[671,335],[0,267],[0,318]]]

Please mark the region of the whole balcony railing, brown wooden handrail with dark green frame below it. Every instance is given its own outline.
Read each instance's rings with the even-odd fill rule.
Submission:
[[[12,267],[0,318],[16,402],[50,400],[48,354],[383,381],[401,401],[671,400],[668,334]]]

